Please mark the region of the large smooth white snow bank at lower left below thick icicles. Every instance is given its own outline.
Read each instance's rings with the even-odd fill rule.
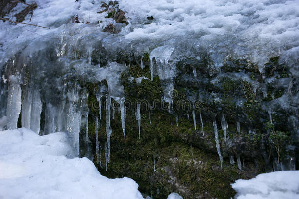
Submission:
[[[64,133],[0,131],[0,198],[143,199],[132,179],[108,179],[87,158],[66,158],[67,142]]]

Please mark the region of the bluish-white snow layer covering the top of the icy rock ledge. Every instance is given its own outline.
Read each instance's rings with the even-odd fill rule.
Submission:
[[[107,24],[115,24],[105,18],[106,12],[97,13],[103,9],[102,0],[34,1],[38,8],[31,22],[29,15],[24,22],[50,29],[0,21],[0,62],[36,38],[55,41],[71,36],[76,40],[86,35],[100,35],[106,47],[111,43],[116,47],[118,42],[119,48],[132,46],[137,53],[153,43],[182,42],[196,51],[206,49],[216,66],[227,56],[246,58],[260,67],[269,57],[281,55],[281,61],[295,64],[299,56],[299,0],[118,0],[129,24],[113,36],[101,33]],[[24,7],[19,3],[7,17],[14,20],[13,15]],[[81,23],[72,23],[75,16]],[[148,20],[151,16],[153,20]],[[129,44],[132,41],[135,44]]]

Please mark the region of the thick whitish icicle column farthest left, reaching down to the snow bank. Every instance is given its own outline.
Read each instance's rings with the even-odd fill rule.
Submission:
[[[8,88],[7,98],[7,129],[17,129],[19,114],[21,112],[21,87],[19,85],[19,77],[10,76],[10,85]]]

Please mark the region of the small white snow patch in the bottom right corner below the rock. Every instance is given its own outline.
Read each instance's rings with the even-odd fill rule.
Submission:
[[[299,199],[299,171],[264,173],[231,186],[237,199]]]

